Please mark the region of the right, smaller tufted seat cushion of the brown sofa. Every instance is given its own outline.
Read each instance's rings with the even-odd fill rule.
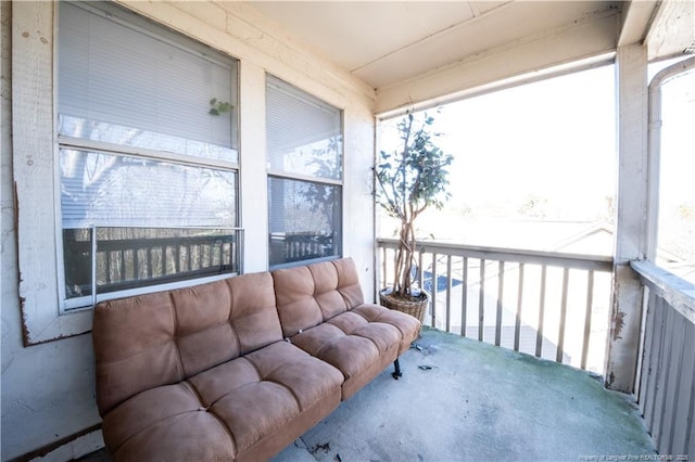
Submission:
[[[292,337],[292,344],[338,368],[344,375],[343,400],[397,357],[401,332],[346,311]]]

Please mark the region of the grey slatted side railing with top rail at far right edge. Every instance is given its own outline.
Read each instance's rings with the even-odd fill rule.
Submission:
[[[695,285],[646,261],[637,403],[660,454],[695,454]]]

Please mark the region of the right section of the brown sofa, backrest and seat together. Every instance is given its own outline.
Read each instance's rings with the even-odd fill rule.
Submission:
[[[415,318],[364,304],[351,258],[277,270],[273,279],[282,334],[343,373],[343,400],[417,337]]]

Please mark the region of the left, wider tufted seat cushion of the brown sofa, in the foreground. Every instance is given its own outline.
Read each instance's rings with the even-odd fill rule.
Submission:
[[[277,342],[134,396],[104,416],[104,439],[124,460],[231,460],[302,412],[332,410],[342,381],[333,367]]]

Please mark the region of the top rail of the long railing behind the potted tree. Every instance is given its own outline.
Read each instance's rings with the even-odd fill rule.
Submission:
[[[379,247],[397,248],[396,239],[377,239]],[[484,247],[478,245],[452,244],[435,241],[420,241],[419,252],[488,260],[514,261],[522,264],[559,266],[594,271],[612,271],[614,259],[607,255],[584,255],[561,252],[543,252],[518,248]]]

